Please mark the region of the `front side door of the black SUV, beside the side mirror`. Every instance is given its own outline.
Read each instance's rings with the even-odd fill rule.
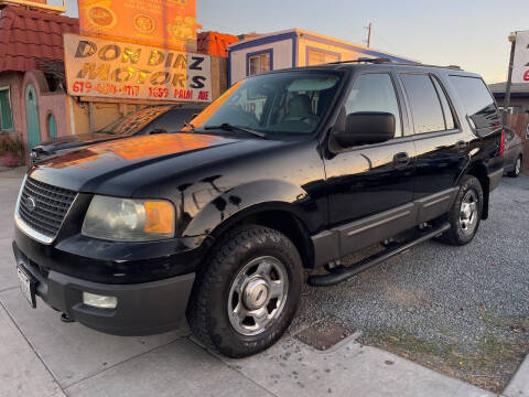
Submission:
[[[344,105],[346,115],[392,114],[396,136],[387,142],[338,151],[325,160],[330,224],[338,230],[342,255],[414,225],[415,149],[412,137],[403,133],[398,98],[389,72],[366,73],[356,76]]]

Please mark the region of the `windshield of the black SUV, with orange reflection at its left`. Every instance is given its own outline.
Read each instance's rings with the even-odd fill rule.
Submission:
[[[342,74],[285,72],[240,82],[198,115],[196,131],[233,126],[277,136],[314,132],[331,106]]]

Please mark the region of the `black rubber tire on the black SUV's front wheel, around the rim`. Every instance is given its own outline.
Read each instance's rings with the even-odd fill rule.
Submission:
[[[283,265],[288,293],[282,310],[261,333],[245,335],[231,325],[228,297],[240,270],[263,256],[277,258]],[[289,328],[300,302],[303,268],[295,246],[278,230],[250,225],[228,233],[213,249],[210,258],[197,275],[187,307],[187,320],[195,336],[208,348],[234,358],[273,345]]]

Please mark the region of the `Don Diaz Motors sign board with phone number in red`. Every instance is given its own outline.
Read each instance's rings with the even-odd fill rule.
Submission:
[[[208,55],[65,34],[64,58],[73,96],[212,101]]]

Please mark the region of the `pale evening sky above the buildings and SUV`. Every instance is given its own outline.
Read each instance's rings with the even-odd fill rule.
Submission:
[[[204,30],[241,34],[300,28],[422,63],[460,65],[505,82],[512,31],[529,30],[528,0],[196,0]],[[50,3],[62,3],[52,0]],[[77,17],[77,1],[66,0]]]

